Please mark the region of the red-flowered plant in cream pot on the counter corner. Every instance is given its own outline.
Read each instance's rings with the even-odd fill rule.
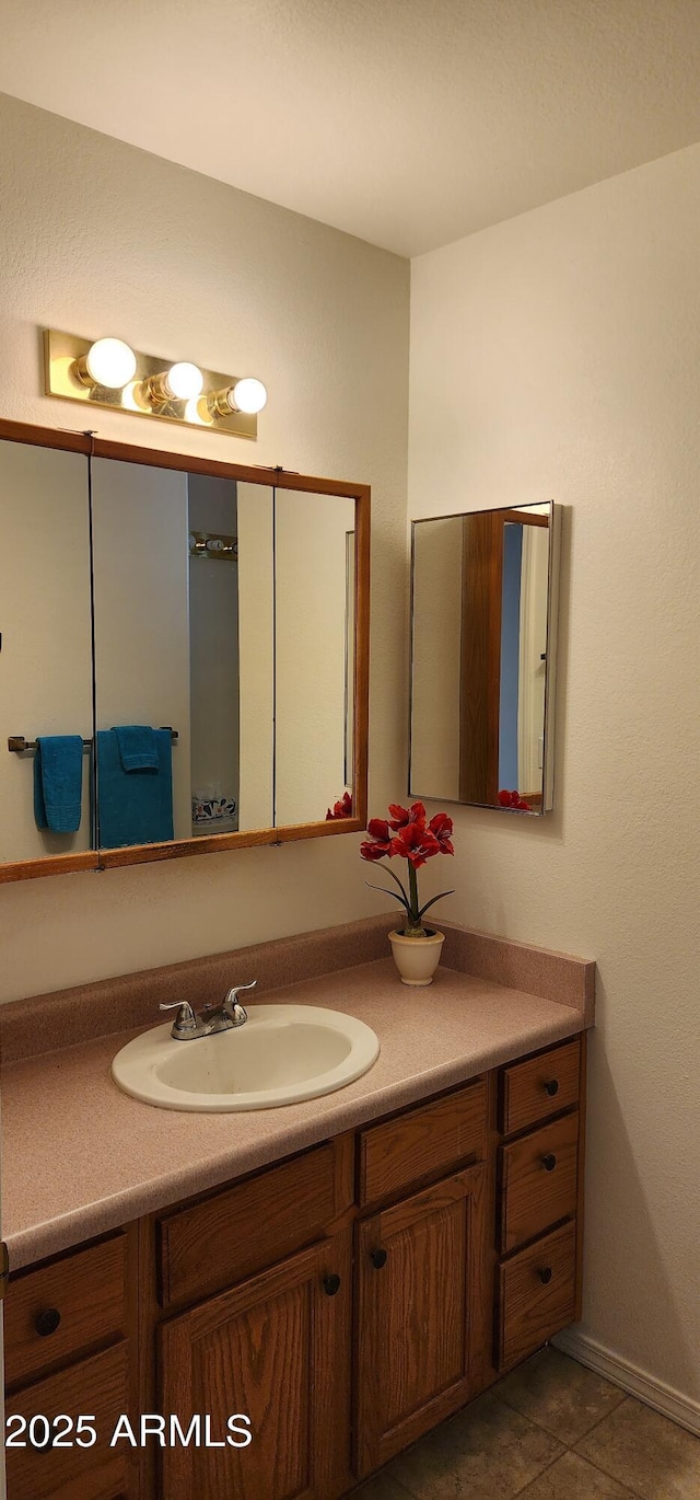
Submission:
[[[439,896],[433,896],[421,906],[417,872],[436,854],[454,854],[453,820],[447,813],[436,813],[427,822],[423,802],[414,802],[411,808],[390,802],[388,819],[372,818],[367,824],[367,832],[370,837],[360,846],[363,860],[376,862],[399,855],[399,858],[406,860],[408,866],[408,891],[399,876],[388,866],[384,867],[387,874],[396,880],[400,894],[367,880],[373,891],[385,891],[405,908],[405,926],[388,934],[402,984],[432,984],[445,934],[424,927],[423,918],[429,908],[435,906],[435,902],[441,902],[444,896],[453,896],[453,891],[441,891]]]

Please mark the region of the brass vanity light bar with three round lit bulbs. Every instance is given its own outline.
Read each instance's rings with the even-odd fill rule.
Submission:
[[[267,390],[252,375],[226,375],[189,360],[171,363],[132,350],[123,339],[82,339],[54,328],[43,333],[43,351],[46,396],[237,438],[258,436]]]

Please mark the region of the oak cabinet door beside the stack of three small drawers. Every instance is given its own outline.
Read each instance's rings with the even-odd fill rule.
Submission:
[[[489,1338],[484,1167],[357,1228],[357,1473],[474,1394]]]

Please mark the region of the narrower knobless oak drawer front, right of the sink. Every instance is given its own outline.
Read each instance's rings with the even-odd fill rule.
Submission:
[[[360,1203],[378,1203],[421,1178],[444,1176],[486,1149],[486,1083],[480,1078],[360,1136]]]

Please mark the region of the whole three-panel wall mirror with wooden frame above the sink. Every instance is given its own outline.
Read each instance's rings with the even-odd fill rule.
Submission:
[[[366,486],[6,423],[0,508],[0,880],[364,828]]]

